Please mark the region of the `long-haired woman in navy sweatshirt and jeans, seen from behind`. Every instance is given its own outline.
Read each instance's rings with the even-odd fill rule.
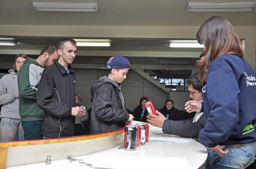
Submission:
[[[204,44],[198,63],[204,83],[205,127],[199,133],[207,146],[209,168],[246,168],[255,157],[255,72],[243,57],[239,37],[230,22],[213,16],[203,23],[196,39]]]

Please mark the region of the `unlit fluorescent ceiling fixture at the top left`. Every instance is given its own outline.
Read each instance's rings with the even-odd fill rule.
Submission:
[[[36,11],[96,12],[97,3],[44,3],[33,2]]]

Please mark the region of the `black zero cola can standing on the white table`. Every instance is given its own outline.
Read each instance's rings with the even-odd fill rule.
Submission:
[[[136,149],[137,128],[134,125],[128,125],[124,129],[124,150]]]

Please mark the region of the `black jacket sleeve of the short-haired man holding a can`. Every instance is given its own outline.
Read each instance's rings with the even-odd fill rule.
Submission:
[[[58,95],[58,91],[54,88],[53,79],[50,73],[44,69],[37,90],[37,104],[46,113],[56,117],[67,117],[71,115],[72,107],[66,103],[61,103],[53,98],[53,95]]]

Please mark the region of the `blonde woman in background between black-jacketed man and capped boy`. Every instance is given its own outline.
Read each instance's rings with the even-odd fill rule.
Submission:
[[[78,93],[76,93],[76,106],[81,106],[83,105],[82,103],[82,97]],[[81,136],[85,134],[85,121],[88,120],[88,113],[85,112],[86,114],[84,116],[79,116],[76,117],[76,126],[75,126],[75,136]]]

